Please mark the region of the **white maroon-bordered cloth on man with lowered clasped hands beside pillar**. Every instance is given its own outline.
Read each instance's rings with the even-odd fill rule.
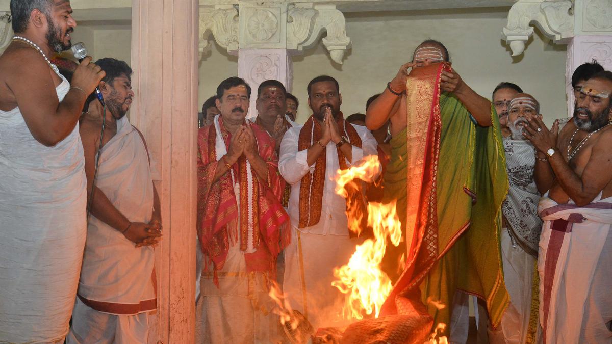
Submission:
[[[102,148],[95,185],[130,222],[151,220],[149,158],[140,133],[126,117],[117,121],[117,133]],[[153,267],[152,246],[135,247],[121,232],[90,216],[78,288],[85,304],[115,315],[154,310]]]

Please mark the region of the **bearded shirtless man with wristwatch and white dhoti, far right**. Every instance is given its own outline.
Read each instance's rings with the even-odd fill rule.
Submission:
[[[600,72],[583,84],[561,132],[558,121],[548,130],[539,118],[524,128],[537,149],[535,182],[543,194],[538,271],[545,343],[612,337],[611,100],[612,72]]]

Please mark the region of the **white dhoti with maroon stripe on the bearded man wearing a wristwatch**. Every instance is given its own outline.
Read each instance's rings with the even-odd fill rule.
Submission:
[[[578,208],[540,200],[544,343],[612,343],[612,197]]]

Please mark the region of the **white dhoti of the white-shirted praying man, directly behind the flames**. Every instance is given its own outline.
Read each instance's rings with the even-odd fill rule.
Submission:
[[[304,314],[313,327],[343,326],[345,294],[332,286],[334,267],[348,264],[363,239],[348,235],[304,233],[291,228],[291,244],[285,249],[283,291],[293,310]]]

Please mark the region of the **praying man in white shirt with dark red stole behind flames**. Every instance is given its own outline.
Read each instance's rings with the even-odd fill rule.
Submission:
[[[334,326],[344,302],[344,294],[331,285],[334,267],[348,263],[359,244],[349,235],[346,217],[347,200],[355,201],[356,193],[347,199],[337,195],[335,176],[339,168],[376,154],[376,140],[370,130],[345,121],[334,78],[316,77],[307,90],[313,114],[285,133],[278,169],[291,184],[293,234],[284,252],[283,287],[291,307],[316,329]],[[359,206],[359,201],[350,204]]]

